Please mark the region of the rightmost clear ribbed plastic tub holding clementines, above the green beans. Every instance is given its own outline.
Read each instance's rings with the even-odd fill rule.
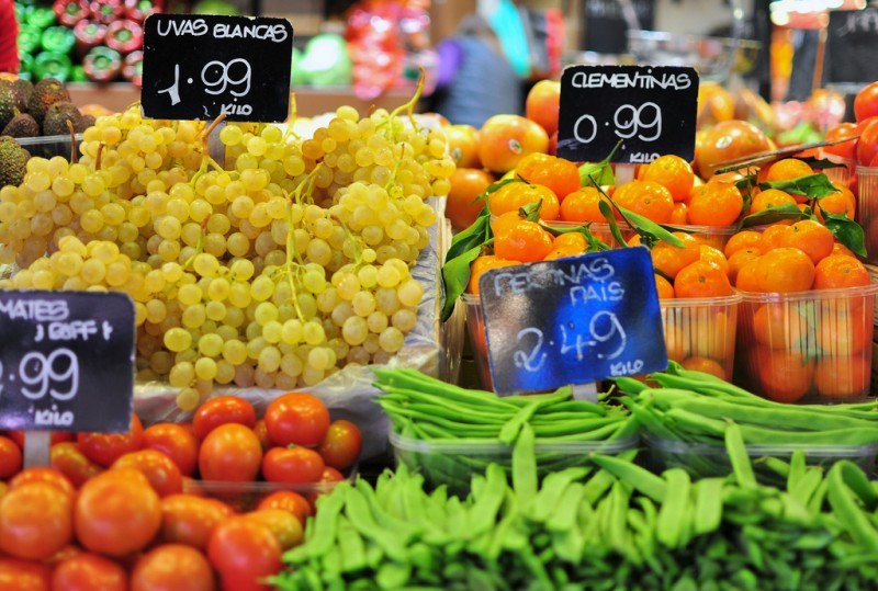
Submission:
[[[736,384],[780,402],[868,396],[878,284],[740,294]]]

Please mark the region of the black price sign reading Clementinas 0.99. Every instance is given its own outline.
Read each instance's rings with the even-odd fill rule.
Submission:
[[[575,162],[691,160],[698,72],[671,66],[571,66],[561,76],[558,156]]]

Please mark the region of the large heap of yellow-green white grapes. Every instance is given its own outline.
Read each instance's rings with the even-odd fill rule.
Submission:
[[[410,117],[409,117],[410,120]],[[0,288],[122,291],[137,378],[193,408],[215,384],[292,389],[385,363],[417,321],[410,268],[454,171],[444,135],[348,106],[302,139],[137,109],[86,130],[78,162],[32,158],[0,190]]]

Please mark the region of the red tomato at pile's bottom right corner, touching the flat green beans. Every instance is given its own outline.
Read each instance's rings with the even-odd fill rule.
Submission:
[[[268,591],[264,577],[283,567],[281,547],[271,530],[246,518],[226,520],[207,542],[207,558],[219,572],[224,591]]]

